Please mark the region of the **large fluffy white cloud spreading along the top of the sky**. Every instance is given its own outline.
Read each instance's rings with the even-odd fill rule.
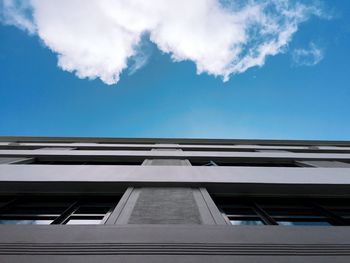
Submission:
[[[38,34],[58,66],[80,78],[117,83],[147,62],[149,35],[174,61],[227,80],[284,51],[300,23],[321,16],[298,0],[3,0],[3,21]],[[28,10],[31,12],[28,14]],[[31,19],[30,19],[31,18]]]

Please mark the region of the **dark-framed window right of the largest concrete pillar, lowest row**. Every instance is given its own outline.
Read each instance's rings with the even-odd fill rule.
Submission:
[[[213,196],[232,225],[350,225],[350,199]]]

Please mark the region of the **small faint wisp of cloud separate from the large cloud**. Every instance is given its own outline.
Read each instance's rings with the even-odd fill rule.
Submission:
[[[307,49],[294,49],[292,58],[296,66],[315,66],[324,58],[324,51],[311,42]]]

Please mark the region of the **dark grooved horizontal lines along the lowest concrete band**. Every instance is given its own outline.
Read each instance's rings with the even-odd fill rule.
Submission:
[[[2,243],[0,255],[342,255],[350,244]]]

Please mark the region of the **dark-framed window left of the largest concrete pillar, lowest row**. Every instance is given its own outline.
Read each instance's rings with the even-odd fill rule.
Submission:
[[[1,197],[0,224],[103,224],[120,196]]]

